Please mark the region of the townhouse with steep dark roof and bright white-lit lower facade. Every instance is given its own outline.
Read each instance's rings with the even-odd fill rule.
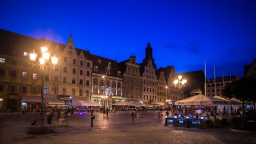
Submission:
[[[123,99],[123,77],[121,77],[118,63],[112,59],[92,54],[90,57],[93,65],[91,99],[102,105],[104,101],[108,101],[109,109],[111,109],[112,103]]]

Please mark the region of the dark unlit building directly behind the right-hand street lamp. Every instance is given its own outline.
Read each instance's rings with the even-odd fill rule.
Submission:
[[[184,87],[185,98],[196,94],[205,94],[205,75],[202,70],[181,73],[181,75],[187,79],[186,86]]]

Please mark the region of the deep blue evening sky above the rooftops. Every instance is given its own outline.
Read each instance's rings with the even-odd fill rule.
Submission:
[[[121,62],[145,57],[157,68],[205,70],[207,78],[243,76],[256,58],[256,1],[108,0],[0,2],[0,28],[66,44]]]

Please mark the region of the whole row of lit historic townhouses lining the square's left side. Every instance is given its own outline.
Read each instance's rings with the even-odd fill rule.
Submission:
[[[59,58],[54,67],[46,64],[43,72],[38,61],[32,64],[29,58],[32,50],[40,57],[41,46]],[[40,99],[42,93],[49,104],[58,99],[69,106],[76,99],[101,105],[106,100],[110,105],[120,100],[177,101],[183,99],[183,90],[173,87],[176,76],[174,65],[156,69],[149,43],[142,63],[134,55],[118,63],[78,49],[72,35],[60,44],[0,29],[0,109],[18,110],[22,104],[34,108],[40,101],[30,98]]]

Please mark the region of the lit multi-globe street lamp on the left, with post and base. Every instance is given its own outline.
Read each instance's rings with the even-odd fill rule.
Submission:
[[[46,63],[49,63],[50,53],[48,53],[47,47],[41,47],[42,57],[39,58],[39,63],[34,64],[37,58],[37,53],[34,52],[30,53],[30,59],[32,61],[32,68],[37,67],[42,70],[42,83],[41,83],[41,105],[40,105],[40,114],[37,115],[37,122],[34,125],[28,127],[31,130],[31,133],[34,134],[45,134],[51,133],[53,130],[53,125],[46,123],[46,117],[44,115],[44,71],[46,68]],[[51,63],[53,65],[57,64],[58,58],[54,55],[51,57]]]

